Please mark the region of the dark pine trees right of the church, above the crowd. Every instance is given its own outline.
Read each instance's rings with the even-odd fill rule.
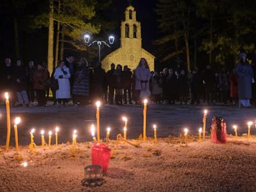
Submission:
[[[155,43],[162,67],[181,57],[187,70],[232,69],[240,51],[255,59],[255,9],[256,1],[158,0],[161,38]]]

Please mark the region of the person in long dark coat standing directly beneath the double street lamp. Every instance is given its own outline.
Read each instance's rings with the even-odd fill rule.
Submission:
[[[93,74],[93,99],[104,101],[103,95],[106,87],[106,72],[101,67],[101,63],[97,65]]]

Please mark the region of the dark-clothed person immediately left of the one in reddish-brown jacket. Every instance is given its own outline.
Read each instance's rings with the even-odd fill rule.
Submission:
[[[34,61],[29,61],[29,65],[27,66],[27,93],[29,96],[29,101],[34,102],[35,100],[35,90],[33,89],[33,77],[34,77]]]

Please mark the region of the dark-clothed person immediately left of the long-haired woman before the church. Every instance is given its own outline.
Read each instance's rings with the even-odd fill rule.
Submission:
[[[123,67],[123,101],[127,104],[127,94],[129,99],[129,104],[131,103],[131,77],[133,73],[131,73],[131,69],[128,68],[127,65]]]

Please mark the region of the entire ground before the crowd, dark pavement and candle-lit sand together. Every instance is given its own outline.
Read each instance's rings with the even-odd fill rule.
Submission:
[[[83,168],[91,164],[89,125],[95,123],[95,107],[29,107],[12,108],[11,118],[20,116],[19,141],[16,153],[13,147],[5,151],[5,108],[0,119],[0,191],[256,191],[256,129],[251,129],[251,140],[235,140],[231,135],[225,145],[211,143],[209,139],[198,143],[191,137],[189,145],[179,145],[178,135],[184,127],[197,135],[201,126],[204,106],[157,106],[149,105],[147,135],[152,136],[151,125],[159,127],[161,141],[141,143],[140,148],[121,143],[111,143],[111,162],[106,183],[101,187],[83,187]],[[225,118],[228,133],[231,125],[239,125],[239,135],[247,133],[246,123],[255,120],[256,109],[233,107],[207,107],[210,119],[215,115]],[[139,107],[105,105],[101,108],[101,138],[111,126],[111,139],[122,132],[122,115],[129,119],[128,137],[137,138],[142,132],[142,110]],[[35,143],[39,145],[39,129],[53,130],[58,125],[59,143],[55,147],[37,148],[31,153],[29,131],[35,127]],[[12,126],[13,127],[13,126]],[[73,129],[78,130],[78,146],[74,152],[70,143]],[[165,138],[164,138],[165,137]],[[54,138],[54,137],[53,137]],[[11,145],[13,141],[13,128]],[[47,136],[46,136],[47,140]],[[54,139],[53,139],[54,141]],[[83,143],[82,143],[83,142]],[[138,141],[135,141],[138,142]],[[27,161],[29,166],[21,167]]]

